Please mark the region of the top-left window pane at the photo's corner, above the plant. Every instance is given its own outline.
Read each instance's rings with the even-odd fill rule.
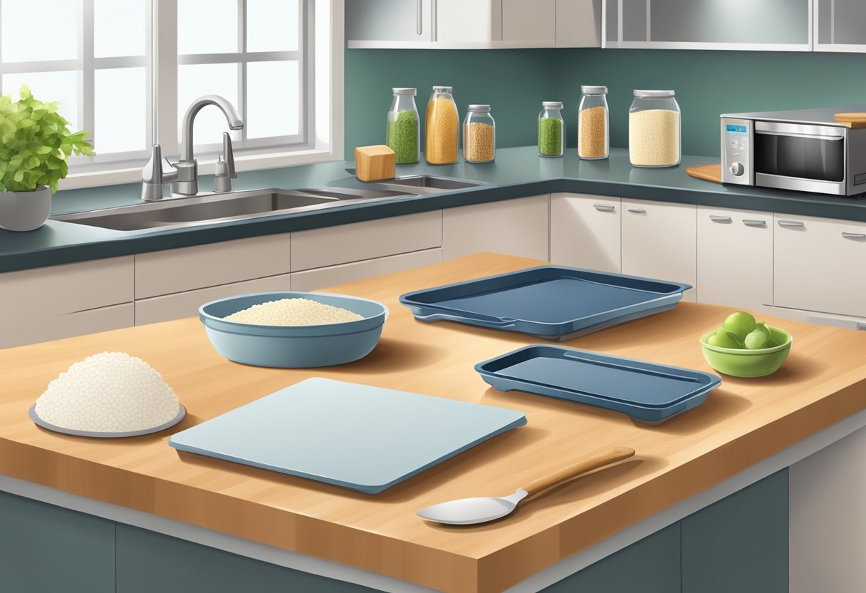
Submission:
[[[3,62],[74,60],[78,57],[81,0],[3,0]]]

